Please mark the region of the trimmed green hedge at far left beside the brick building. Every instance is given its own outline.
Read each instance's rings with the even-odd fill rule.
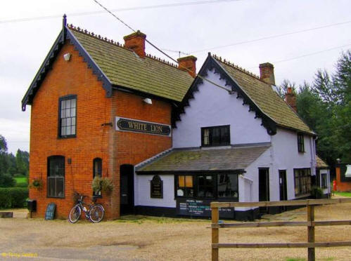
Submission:
[[[0,187],[0,208],[23,208],[27,198],[26,187]]]

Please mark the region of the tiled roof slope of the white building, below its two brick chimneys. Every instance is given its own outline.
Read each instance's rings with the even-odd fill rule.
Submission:
[[[262,112],[275,121],[278,126],[314,134],[269,84],[264,83],[250,72],[231,65],[229,62],[222,61],[215,55],[212,57],[238,83],[238,86],[255,102]]]

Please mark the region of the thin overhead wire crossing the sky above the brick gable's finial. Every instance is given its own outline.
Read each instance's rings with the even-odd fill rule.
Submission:
[[[112,12],[124,12],[124,11],[136,11],[136,10],[146,10],[146,9],[155,9],[155,8],[170,8],[177,6],[197,6],[204,4],[218,4],[221,2],[231,2],[231,1],[243,1],[243,0],[208,0],[208,1],[192,1],[186,3],[172,3],[172,4],[160,4],[153,6],[134,6],[127,8],[117,8],[111,9]],[[68,13],[69,16],[79,16],[79,15],[97,15],[99,13],[105,13],[105,11],[89,11],[89,12],[80,12],[80,13]],[[8,19],[0,21],[0,24],[9,23],[9,22],[27,22],[32,20],[46,20],[53,18],[61,18],[62,15],[46,15],[46,16],[37,16],[34,18],[18,18],[18,19]]]

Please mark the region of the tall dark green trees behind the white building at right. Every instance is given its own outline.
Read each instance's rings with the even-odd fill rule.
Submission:
[[[288,85],[284,80],[281,91]],[[317,133],[317,153],[329,166],[351,162],[351,51],[342,53],[333,74],[317,71],[312,84],[299,87],[298,114]]]

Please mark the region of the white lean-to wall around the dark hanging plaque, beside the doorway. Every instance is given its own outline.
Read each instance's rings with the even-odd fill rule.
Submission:
[[[160,175],[163,181],[163,199],[151,199],[150,181],[153,175],[134,175],[134,205],[175,208],[174,175]]]

